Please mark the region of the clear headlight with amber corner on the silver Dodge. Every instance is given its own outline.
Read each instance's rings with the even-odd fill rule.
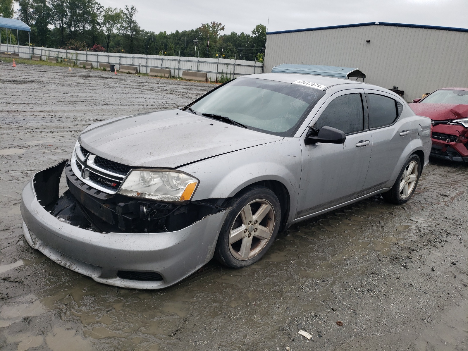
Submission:
[[[177,171],[132,171],[119,194],[151,200],[180,202],[192,198],[198,180]]]

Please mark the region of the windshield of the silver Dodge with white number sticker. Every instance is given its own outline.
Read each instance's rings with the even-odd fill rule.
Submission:
[[[297,84],[237,78],[190,107],[199,115],[228,117],[248,129],[289,137],[306,117],[307,108],[323,94]]]

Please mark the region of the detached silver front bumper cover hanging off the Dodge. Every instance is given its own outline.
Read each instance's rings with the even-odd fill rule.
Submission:
[[[99,283],[161,289],[188,277],[213,257],[226,210],[161,233],[99,233],[54,217],[48,209],[59,197],[65,163],[37,172],[22,191],[26,241],[52,261]]]

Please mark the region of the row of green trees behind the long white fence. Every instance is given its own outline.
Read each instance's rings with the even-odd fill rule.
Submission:
[[[0,0],[0,4],[12,0]],[[225,34],[220,22],[196,29],[155,33],[139,27],[134,6],[104,8],[96,0],[17,0],[18,17],[31,27],[31,43],[81,48],[102,45],[110,52],[196,56],[262,62],[266,27],[257,24],[249,33]],[[73,40],[73,42],[71,42]],[[195,42],[194,42],[195,40]],[[20,33],[20,43],[28,33]],[[79,42],[80,45],[76,45]],[[85,44],[82,44],[85,43]],[[77,49],[78,50],[78,49]],[[218,56],[217,56],[218,55]]]

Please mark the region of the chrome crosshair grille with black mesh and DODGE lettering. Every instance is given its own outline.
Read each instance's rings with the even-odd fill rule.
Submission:
[[[72,154],[71,166],[80,181],[108,194],[117,192],[130,171],[130,166],[92,154],[78,143]]]

